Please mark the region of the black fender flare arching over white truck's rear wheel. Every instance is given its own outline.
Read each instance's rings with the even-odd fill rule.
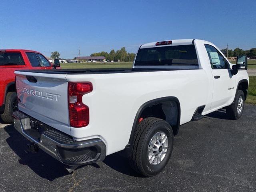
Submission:
[[[180,128],[180,101],[178,100],[178,98],[172,97],[172,96],[156,98],[156,99],[150,100],[150,101],[142,104],[142,106],[140,106],[140,108],[138,109],[138,111],[136,113],[136,116],[134,118],[134,122],[133,122],[133,125],[132,125],[132,131],[131,131],[129,143],[128,143],[127,146],[131,146],[131,144],[133,143],[135,130],[136,130],[136,127],[138,125],[138,120],[139,120],[143,110],[145,110],[147,107],[149,107],[151,105],[159,104],[159,103],[162,103],[162,102],[168,102],[168,101],[174,101],[177,104],[178,119],[177,119],[177,124],[175,126],[172,126],[172,130],[173,130],[174,135],[178,134],[178,131],[179,131],[179,128]]]

